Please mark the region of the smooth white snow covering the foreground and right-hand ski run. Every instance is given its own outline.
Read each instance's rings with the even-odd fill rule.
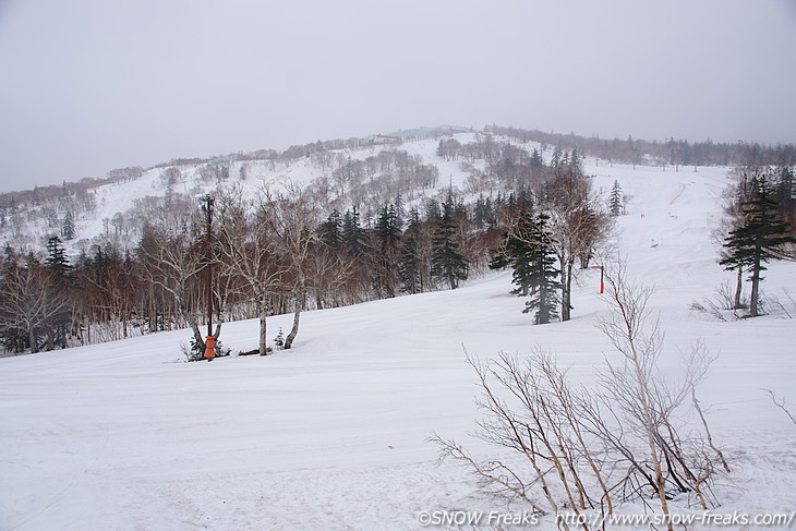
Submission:
[[[431,157],[421,144],[411,153]],[[761,389],[796,411],[796,322],[689,311],[732,278],[709,238],[727,169],[589,160],[587,172],[595,188],[607,193],[616,179],[631,196],[616,239],[630,276],[655,285],[664,370],[699,339],[717,355],[699,391],[734,470],[716,512],[793,511],[796,425]],[[794,264],[772,264],[764,290],[781,294],[795,278]],[[184,363],[190,334],[180,330],[0,359],[0,529],[411,530],[426,510],[521,514],[466,469],[437,466],[426,439],[496,451],[468,435],[481,413],[465,349],[527,355],[540,346],[572,378],[593,378],[612,353],[594,327],[606,311],[598,287],[599,271],[582,273],[574,318],[543,326],[529,324],[523,300],[508,294],[510,274],[498,273],[455,291],[307,312],[294,349],[266,358]],[[290,318],[270,318],[270,335]],[[249,350],[256,334],[254,321],[229,323],[221,340]]]

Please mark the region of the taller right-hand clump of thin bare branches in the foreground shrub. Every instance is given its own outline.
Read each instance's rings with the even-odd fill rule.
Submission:
[[[701,437],[682,433],[685,429],[676,422],[676,411],[685,407],[688,396],[692,397],[692,405],[698,406],[695,389],[704,377],[712,359],[704,346],[698,342],[686,355],[684,383],[670,383],[656,366],[663,347],[663,334],[658,319],[650,319],[648,303],[651,288],[629,282],[622,265],[608,273],[607,286],[613,311],[598,326],[608,336],[624,360],[622,365],[606,361],[603,386],[620,397],[616,403],[623,415],[631,420],[630,425],[647,442],[655,490],[664,515],[668,515],[668,491],[672,488],[675,492],[695,493],[700,505],[708,508],[713,461],[719,458],[725,466],[726,461],[720,451],[715,451],[704,417],[702,421],[709,437],[708,446],[715,452],[713,458],[702,449],[705,444]],[[612,406],[608,405],[608,408]]]

